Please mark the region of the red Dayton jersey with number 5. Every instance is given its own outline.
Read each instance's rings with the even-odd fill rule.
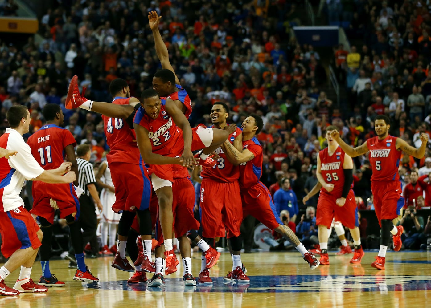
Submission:
[[[369,161],[372,166],[372,182],[399,180],[401,150],[396,148],[397,137],[387,136],[383,140],[372,137],[367,140],[370,150]]]

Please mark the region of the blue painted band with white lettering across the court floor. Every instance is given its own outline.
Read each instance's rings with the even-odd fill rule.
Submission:
[[[250,276],[250,283],[223,281],[212,277],[212,285],[184,286],[181,278],[167,278],[160,287],[147,283],[127,284],[126,281],[100,281],[84,286],[93,289],[142,291],[142,292],[381,292],[419,291],[431,289],[431,276],[400,275],[291,275]]]

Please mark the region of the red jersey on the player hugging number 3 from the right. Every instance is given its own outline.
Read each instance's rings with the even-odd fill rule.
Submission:
[[[240,164],[240,188],[249,188],[259,183],[262,175],[262,146],[255,136],[250,140],[243,141],[243,149],[248,149],[254,155],[254,158],[249,162]]]

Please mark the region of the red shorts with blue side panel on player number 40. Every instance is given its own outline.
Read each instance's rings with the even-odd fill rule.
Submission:
[[[133,212],[150,206],[151,183],[144,165],[111,162],[109,169],[115,187],[114,212]]]

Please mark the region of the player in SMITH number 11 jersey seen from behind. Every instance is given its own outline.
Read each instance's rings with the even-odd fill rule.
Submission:
[[[47,123],[27,140],[31,154],[44,170],[58,168],[67,156],[68,161],[72,163],[72,171],[78,174],[78,163],[75,157],[76,141],[67,129],[61,127],[64,115],[60,106],[47,104],[42,113]],[[78,186],[78,180],[75,180],[74,184]],[[44,286],[64,286],[64,282],[59,281],[50,271],[49,260],[56,208],[59,208],[60,218],[66,219],[69,225],[70,240],[78,264],[73,279],[86,282],[99,281],[85,266],[84,243],[78,219],[80,207],[74,184],[47,184],[42,181],[33,183],[33,208],[30,213],[39,217],[41,230],[44,233],[40,248],[42,276],[39,280],[39,284]]]

